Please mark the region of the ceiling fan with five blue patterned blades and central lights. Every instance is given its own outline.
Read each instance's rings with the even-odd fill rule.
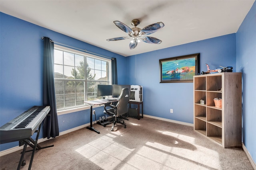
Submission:
[[[164,23],[162,23],[162,22],[150,24],[142,29],[137,27],[137,25],[140,24],[140,20],[137,20],[137,19],[132,20],[131,24],[134,26],[134,28],[130,28],[120,21],[114,21],[114,23],[122,31],[128,33],[129,37],[110,38],[110,39],[107,39],[107,41],[118,41],[118,40],[122,40],[122,39],[132,39],[132,41],[130,42],[130,49],[135,49],[135,47],[138,45],[138,42],[140,42],[140,39],[146,43],[152,43],[152,44],[162,43],[162,41],[160,39],[157,39],[155,37],[145,36],[145,35],[152,34],[156,31],[158,31],[159,29],[161,29],[162,27],[164,27]]]

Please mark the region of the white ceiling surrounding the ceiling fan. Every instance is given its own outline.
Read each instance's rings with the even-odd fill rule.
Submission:
[[[130,56],[236,33],[255,0],[0,0],[0,11],[114,53]],[[143,28],[162,21],[150,36],[161,44],[140,42],[129,49],[127,33],[113,21]],[[57,41],[58,40],[54,40]],[[60,42],[61,43],[61,42]],[[90,49],[87,49],[90,51]]]

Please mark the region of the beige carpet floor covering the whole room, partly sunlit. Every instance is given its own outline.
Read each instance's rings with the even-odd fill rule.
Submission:
[[[253,170],[242,148],[224,149],[193,127],[144,117],[93,125],[39,143],[32,170]],[[1,170],[17,169],[20,151],[0,157]],[[31,152],[25,154],[28,169]]]

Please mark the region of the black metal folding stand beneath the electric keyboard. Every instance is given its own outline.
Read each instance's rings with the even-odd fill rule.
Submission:
[[[32,151],[32,155],[31,155],[30,163],[29,163],[29,167],[28,167],[28,170],[31,170],[35,151],[36,151],[36,150],[39,150],[39,149],[45,149],[45,148],[49,148],[49,147],[53,147],[53,146],[54,146],[54,145],[50,145],[50,146],[47,146],[47,147],[40,147],[40,145],[37,144],[37,142],[38,142],[38,137],[39,137],[40,130],[41,130],[41,125],[42,125],[42,123],[39,125],[38,130],[35,131],[35,133],[37,133],[37,135],[36,135],[36,140],[35,140],[35,141],[34,141],[31,137],[28,138],[28,139],[24,139],[24,140],[22,140],[22,141],[19,141],[19,145],[20,145],[20,146],[24,145],[24,147],[23,147],[23,150],[22,150],[22,152],[21,152],[20,162],[19,162],[19,164],[18,164],[17,170],[20,170],[20,167],[21,167],[21,166],[26,165],[26,161],[24,160],[25,152],[30,152],[30,151]],[[29,145],[30,147],[32,147],[32,150],[26,151],[28,145]]]

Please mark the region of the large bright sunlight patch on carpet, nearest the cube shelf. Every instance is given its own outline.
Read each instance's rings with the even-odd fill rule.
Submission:
[[[186,144],[180,147],[170,147],[160,143],[147,142],[144,147],[136,152],[134,157],[139,155],[139,157],[146,159],[144,161],[149,164],[151,161],[151,164],[157,162],[157,164],[161,164],[162,168],[187,169],[190,167],[190,169],[197,169],[201,167],[217,170],[220,167],[218,152],[200,145],[195,145],[196,149],[188,149],[188,147]],[[194,150],[200,152],[200,154],[193,154]],[[194,156],[191,157],[191,155]],[[209,160],[209,157],[212,159]],[[133,159],[132,161],[134,161]],[[202,164],[202,162],[204,163]]]

